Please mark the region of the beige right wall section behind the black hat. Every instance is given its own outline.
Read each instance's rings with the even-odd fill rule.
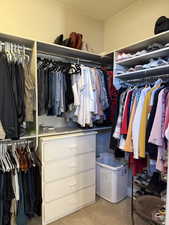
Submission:
[[[153,35],[160,16],[169,17],[169,0],[136,0],[105,21],[104,50],[125,47]]]

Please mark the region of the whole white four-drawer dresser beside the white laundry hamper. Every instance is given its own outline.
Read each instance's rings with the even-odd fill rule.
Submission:
[[[95,202],[96,132],[40,139],[42,224]]]

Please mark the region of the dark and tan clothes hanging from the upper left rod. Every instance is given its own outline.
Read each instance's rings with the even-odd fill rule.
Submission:
[[[35,81],[27,56],[12,47],[0,52],[0,139],[19,139],[24,123],[33,122]]]

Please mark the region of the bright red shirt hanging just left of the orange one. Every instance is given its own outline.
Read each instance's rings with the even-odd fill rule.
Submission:
[[[122,124],[120,129],[120,134],[127,134],[128,131],[128,121],[129,121],[129,110],[130,110],[130,101],[132,97],[133,91],[129,91],[126,97],[124,111],[123,111],[123,118],[122,118]]]

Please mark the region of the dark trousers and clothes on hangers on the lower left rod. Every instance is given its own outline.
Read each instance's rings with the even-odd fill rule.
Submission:
[[[34,143],[2,143],[0,166],[0,223],[27,225],[41,215],[40,161]],[[2,149],[1,149],[2,150]]]

